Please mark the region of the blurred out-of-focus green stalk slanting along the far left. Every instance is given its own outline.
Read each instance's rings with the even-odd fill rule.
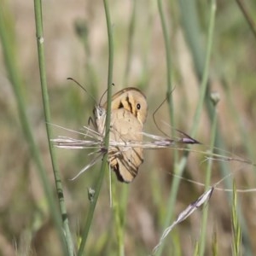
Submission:
[[[38,171],[38,176],[40,177],[40,181],[42,182],[44,188],[44,194],[48,202],[49,212],[57,227],[58,235],[60,236],[62,251],[64,254],[67,254],[66,242],[61,228],[61,218],[57,208],[55,207],[55,201],[51,192],[51,188],[49,186],[49,179],[46,176],[43,160],[40,157],[38,146],[35,143],[34,137],[32,135],[32,127],[26,115],[26,103],[24,102],[22,90],[22,87],[24,86],[21,82],[23,79],[21,79],[20,70],[17,67],[18,61],[16,59],[17,54],[15,52],[16,46],[14,40],[15,29],[14,21],[11,20],[11,17],[12,15],[9,12],[7,3],[3,3],[0,9],[0,36],[3,46],[4,61],[7,72],[9,73],[9,79],[15,92],[20,123],[24,136],[26,138],[26,143],[28,143],[29,150],[32,154],[32,159],[35,161],[35,164],[37,166],[36,170]]]

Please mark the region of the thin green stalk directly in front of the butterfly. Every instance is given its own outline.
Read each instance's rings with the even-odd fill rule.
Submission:
[[[103,3],[104,3],[106,20],[107,20],[107,28],[108,28],[108,107],[107,107],[106,130],[105,131],[109,131],[110,114],[111,114],[111,97],[112,97],[112,77],[113,77],[113,32],[112,32],[112,24],[111,24],[109,9],[108,9],[108,1],[103,0]],[[104,143],[106,145],[106,148],[108,148],[109,132],[106,132],[106,136],[104,138]],[[102,181],[104,178],[107,161],[108,161],[108,154],[105,154],[103,157],[103,160],[102,160],[101,171],[99,173],[99,177],[97,178],[96,192],[95,192],[94,200],[91,201],[91,203],[90,203],[89,212],[88,212],[88,215],[86,218],[84,232],[82,234],[82,241],[79,246],[78,256],[81,256],[84,253],[84,247],[85,247],[85,243],[87,241],[87,237],[88,237],[89,230],[90,230],[90,225],[91,225],[93,214],[94,214],[94,211],[96,208],[96,202],[98,200],[100,191],[102,189]]]

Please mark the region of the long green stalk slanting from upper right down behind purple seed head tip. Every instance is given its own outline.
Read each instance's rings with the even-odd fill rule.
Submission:
[[[184,8],[185,10],[188,11],[187,5],[184,3],[183,0],[180,0],[179,3],[182,6],[181,9]],[[191,137],[195,137],[195,132],[197,131],[199,119],[200,119],[202,108],[203,108],[203,102],[204,102],[204,99],[206,96],[209,63],[210,63],[210,56],[211,56],[211,52],[212,52],[212,38],[213,38],[213,31],[214,31],[214,24],[215,24],[215,12],[216,12],[216,3],[215,3],[215,0],[212,0],[210,22],[209,22],[209,28],[208,28],[208,37],[207,37],[207,55],[206,55],[206,59],[204,61],[205,65],[203,66],[204,68],[203,68],[203,73],[202,73],[203,79],[201,81],[200,99],[199,99],[199,103],[198,103],[198,106],[197,106],[196,112],[195,112],[195,117],[194,117],[194,121],[193,121],[194,125],[192,127]],[[187,13],[182,12],[182,14],[185,15]],[[177,177],[173,177],[173,180],[172,180],[172,189],[170,192],[169,201],[167,203],[168,207],[167,207],[167,212],[166,212],[166,220],[165,220],[165,224],[164,224],[164,229],[166,229],[166,227],[168,226],[168,224],[170,224],[170,222],[172,220],[173,209],[175,208],[174,206],[175,206],[175,202],[177,199],[177,189],[178,189],[179,183],[180,183],[180,179],[178,177],[181,177],[183,174],[183,170],[184,170],[184,167],[186,166],[188,156],[189,156],[189,151],[186,151],[183,154],[183,157],[181,158],[179,163],[177,163],[177,165],[174,166],[175,173],[177,174]],[[160,247],[157,255],[161,255],[163,247],[164,246]]]

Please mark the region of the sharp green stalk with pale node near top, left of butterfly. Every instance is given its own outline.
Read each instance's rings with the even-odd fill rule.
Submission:
[[[38,63],[39,63],[39,71],[40,71],[40,81],[41,81],[41,90],[44,104],[44,117],[46,122],[46,131],[48,136],[49,143],[49,153],[51,156],[51,164],[53,166],[53,172],[55,177],[55,187],[57,190],[58,200],[61,209],[61,217],[63,229],[65,231],[65,240],[67,243],[67,250],[69,255],[73,255],[73,240],[72,235],[69,230],[68,218],[67,218],[67,209],[64,200],[64,193],[61,184],[61,175],[58,170],[58,166],[55,158],[55,150],[53,148],[52,143],[50,142],[50,138],[52,137],[51,130],[51,118],[50,118],[50,109],[49,109],[49,94],[47,88],[47,78],[46,78],[46,70],[45,70],[45,59],[44,59],[44,31],[43,31],[43,17],[42,17],[42,3],[41,0],[34,1],[34,11],[35,11],[35,21],[36,21],[36,33],[37,33],[37,42],[38,42]]]

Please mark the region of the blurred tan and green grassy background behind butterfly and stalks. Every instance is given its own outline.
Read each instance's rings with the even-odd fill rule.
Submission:
[[[186,1],[164,1],[164,13],[172,49],[172,92],[175,128],[189,133],[193,125],[201,83],[197,61],[204,61],[210,3],[191,1],[199,34],[191,27],[185,29],[185,18],[192,9]],[[249,14],[256,16],[256,3],[247,1]],[[190,6],[191,7],[191,6]],[[49,149],[45,132],[42,96],[39,86],[38,53],[32,2],[19,0],[9,3],[10,15],[15,20],[16,58],[25,86],[26,113],[40,148],[44,166],[54,187]],[[106,90],[108,77],[108,33],[101,1],[47,1],[44,9],[44,44],[49,85],[52,122],[78,131],[92,114],[94,102],[67,77],[79,80],[90,94],[99,99]],[[148,120],[145,131],[160,134],[154,125],[153,113],[166,97],[166,52],[160,15],[154,1],[111,1],[109,9],[113,22],[114,91],[127,86],[143,90],[148,98]],[[134,13],[133,13],[134,11]],[[187,13],[186,13],[187,12]],[[131,17],[134,15],[134,26]],[[199,51],[189,43],[189,32],[198,36]],[[196,40],[195,40],[196,42]],[[208,90],[218,92],[218,132],[232,154],[253,160],[255,155],[255,96],[256,38],[247,25],[235,1],[217,1],[216,24],[212,41],[212,56]],[[131,50],[129,50],[131,47]],[[0,178],[0,252],[3,255],[58,255],[60,245],[55,241],[55,228],[49,218],[43,189],[35,172],[36,166],[28,150],[20,127],[15,96],[3,61],[1,49],[1,178]],[[130,58],[131,67],[126,63]],[[200,65],[199,65],[200,66]],[[209,101],[209,100],[208,100]],[[167,105],[167,104],[166,104]],[[167,106],[156,119],[171,135]],[[211,119],[207,108],[201,115],[195,138],[210,143]],[[67,135],[54,128],[55,137]],[[198,146],[203,150],[201,146]],[[100,163],[71,182],[79,170],[92,159],[86,150],[56,149],[67,213],[73,240],[79,242],[86,212],[90,205],[87,189],[94,186]],[[178,153],[180,156],[181,153]],[[201,154],[190,154],[184,177],[204,183],[207,162]],[[225,162],[234,173],[237,189],[255,187],[253,166]],[[212,183],[220,177],[218,164],[212,167]],[[173,150],[145,150],[144,163],[133,183],[117,184],[117,191],[129,186],[125,211],[125,255],[150,253],[160,238],[166,218],[167,201],[172,186]],[[231,179],[231,177],[230,177]],[[222,184],[225,188],[224,183]],[[112,255],[117,252],[113,209],[109,207],[108,177],[104,181],[97,202],[86,252],[89,255]],[[201,195],[204,188],[180,181],[175,204],[175,216]],[[211,255],[213,236],[217,236],[219,255],[232,253],[231,202],[227,192],[216,191],[209,202],[206,253]],[[241,213],[245,219],[244,252],[256,253],[253,243],[256,225],[253,221],[255,199],[253,193],[239,194]],[[56,202],[57,204],[57,202]],[[201,211],[195,212],[179,224],[167,238],[163,255],[191,255],[201,232]],[[113,234],[113,236],[110,236]],[[49,246],[50,244],[50,246]],[[247,254],[249,255],[249,254]]]

